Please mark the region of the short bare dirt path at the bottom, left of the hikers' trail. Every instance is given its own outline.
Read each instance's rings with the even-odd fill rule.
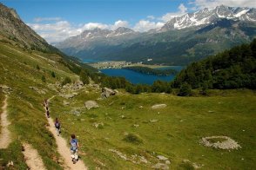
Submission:
[[[43,160],[37,153],[37,150],[31,147],[27,143],[24,143],[23,147],[24,147],[24,152],[23,152],[24,158],[27,166],[30,167],[30,170],[37,170],[37,169],[46,170],[46,168],[44,167]]]

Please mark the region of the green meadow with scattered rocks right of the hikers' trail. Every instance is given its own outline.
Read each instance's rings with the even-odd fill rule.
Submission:
[[[69,107],[63,107],[63,98],[55,98],[52,114],[62,121],[66,138],[77,134],[82,154],[86,153],[83,159],[92,169],[145,169],[158,162],[158,154],[168,157],[173,168],[185,167],[182,160],[187,159],[206,169],[255,167],[256,127],[253,122],[256,121],[256,108],[253,103],[256,96],[253,91],[213,91],[219,95],[211,97],[118,95],[98,101],[100,108],[88,111],[83,108],[84,101],[96,100],[99,93],[87,90],[91,91],[90,95],[81,92],[71,100]],[[151,106],[156,103],[168,106],[152,110]],[[71,114],[72,109],[79,107],[83,108],[81,115]],[[158,122],[151,123],[153,119]],[[104,127],[93,127],[93,122],[103,122]],[[125,132],[137,134],[143,143],[125,142]],[[242,149],[229,152],[199,144],[202,137],[212,135],[230,136]],[[152,164],[137,165],[122,160],[109,149],[117,149],[129,158],[132,154],[143,155]]]

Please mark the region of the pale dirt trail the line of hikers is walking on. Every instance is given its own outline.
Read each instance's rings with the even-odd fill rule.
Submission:
[[[48,101],[50,102],[55,96],[52,96]],[[50,107],[49,107],[50,108]],[[51,114],[50,114],[51,116]],[[65,169],[72,169],[72,170],[86,170],[83,160],[78,160],[76,164],[73,164],[71,160],[71,150],[70,147],[67,146],[67,142],[64,140],[63,137],[60,135],[57,136],[54,121],[51,118],[47,118],[49,122],[49,130],[51,134],[54,135],[57,144],[57,152],[64,158]],[[79,154],[79,153],[78,153]]]

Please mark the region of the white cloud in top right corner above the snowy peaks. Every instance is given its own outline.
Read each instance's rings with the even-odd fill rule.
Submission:
[[[193,0],[190,4],[197,7],[197,9],[214,8],[221,4],[231,7],[256,8],[256,1],[254,0]]]

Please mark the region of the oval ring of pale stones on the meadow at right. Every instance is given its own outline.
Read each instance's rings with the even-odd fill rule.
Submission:
[[[212,139],[221,139],[224,141],[212,142]],[[214,147],[220,149],[239,149],[241,148],[238,142],[233,141],[230,137],[227,136],[211,136],[202,138],[201,143],[205,145],[205,147]]]

